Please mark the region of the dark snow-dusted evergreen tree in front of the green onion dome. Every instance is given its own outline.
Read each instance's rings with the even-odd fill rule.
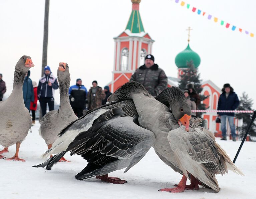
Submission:
[[[201,101],[207,99],[209,96],[204,96],[200,94],[203,91],[202,80],[200,79],[200,73],[197,72],[197,69],[194,66],[193,60],[191,60],[190,62],[187,62],[187,66],[188,68],[186,70],[183,70],[184,73],[183,75],[181,75],[179,88],[184,91],[187,89],[187,84],[191,83],[194,85],[194,88],[199,94]],[[207,108],[209,107],[206,107],[206,104],[204,103],[200,103],[199,106],[197,107],[197,109],[199,110],[206,110]],[[197,112],[197,117],[202,118],[202,114],[203,113],[201,112]],[[203,125],[204,125],[204,122],[202,126]]]

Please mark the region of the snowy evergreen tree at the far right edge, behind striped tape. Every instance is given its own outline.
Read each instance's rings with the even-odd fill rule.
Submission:
[[[245,92],[243,93],[243,96],[240,97],[240,104],[237,108],[237,110],[252,110],[253,100],[249,99],[248,94]],[[237,130],[240,132],[241,137],[245,135],[245,132],[252,120],[250,113],[236,113],[236,118],[242,119],[243,125],[237,127]],[[249,135],[256,136],[256,123],[252,124],[252,128],[249,131]]]

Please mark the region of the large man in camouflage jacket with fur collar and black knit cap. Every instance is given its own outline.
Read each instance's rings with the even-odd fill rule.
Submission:
[[[135,71],[130,81],[141,83],[152,96],[157,96],[167,88],[168,80],[164,70],[154,62],[154,56],[147,55],[145,64]]]

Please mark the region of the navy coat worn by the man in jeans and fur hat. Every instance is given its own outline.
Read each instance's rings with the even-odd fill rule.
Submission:
[[[218,110],[235,110],[239,105],[239,99],[235,92],[230,92],[228,98],[226,98],[226,93],[223,92],[220,95],[218,102]],[[219,115],[229,115],[235,116],[233,112],[218,112]]]

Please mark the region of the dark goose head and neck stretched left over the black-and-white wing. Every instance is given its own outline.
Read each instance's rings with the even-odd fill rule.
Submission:
[[[148,97],[151,96],[142,84],[131,81],[125,83],[119,89],[117,89],[111,96],[108,97],[107,102],[132,99],[132,95],[134,94],[144,94]]]

